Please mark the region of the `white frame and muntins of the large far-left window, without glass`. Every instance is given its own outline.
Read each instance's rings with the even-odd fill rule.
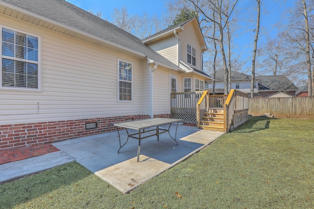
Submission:
[[[32,61],[28,59],[22,59],[22,58],[17,58],[17,57],[11,57],[11,56],[6,56],[2,55],[2,28],[13,30],[15,33],[20,32],[29,36],[33,36],[37,38],[38,41],[38,46],[37,46],[37,61]],[[16,28],[11,28],[7,26],[0,25],[0,31],[1,31],[1,36],[0,36],[0,48],[1,48],[1,55],[0,55],[0,64],[1,64],[1,73],[0,73],[0,89],[2,90],[13,90],[13,91],[35,91],[35,92],[41,92],[41,87],[42,87],[42,66],[41,66],[41,50],[42,50],[42,43],[41,43],[41,36],[31,34],[22,30],[18,30]],[[14,46],[16,46],[14,44]],[[26,63],[31,63],[31,64],[36,64],[37,65],[37,88],[27,88],[27,87],[3,87],[2,86],[2,59],[8,59],[8,60],[13,60],[13,61],[20,61],[20,62],[26,62]]]

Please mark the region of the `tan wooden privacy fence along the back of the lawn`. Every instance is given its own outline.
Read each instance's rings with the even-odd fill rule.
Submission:
[[[250,98],[249,112],[252,116],[270,113],[277,118],[314,119],[313,97]]]

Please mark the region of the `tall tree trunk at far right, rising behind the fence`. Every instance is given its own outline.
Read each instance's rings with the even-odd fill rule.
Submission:
[[[309,32],[309,20],[308,13],[306,11],[306,3],[305,0],[303,2],[303,15],[305,18],[305,31],[306,31],[306,62],[308,69],[308,96],[313,96],[312,93],[312,72],[311,72],[311,57],[310,57],[310,32]]]

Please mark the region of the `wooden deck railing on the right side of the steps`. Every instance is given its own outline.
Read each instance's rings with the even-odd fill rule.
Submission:
[[[229,132],[248,120],[247,93],[232,89],[224,104],[224,132]]]

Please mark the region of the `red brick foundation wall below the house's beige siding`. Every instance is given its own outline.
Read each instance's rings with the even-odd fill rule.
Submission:
[[[169,117],[169,114],[156,115],[156,117]],[[75,139],[79,137],[116,131],[117,128],[111,126],[110,123],[121,122],[131,118],[136,120],[150,118],[150,116],[119,116],[0,125],[0,150],[36,146],[67,139]],[[97,122],[97,128],[85,130],[85,123],[89,122]]]

